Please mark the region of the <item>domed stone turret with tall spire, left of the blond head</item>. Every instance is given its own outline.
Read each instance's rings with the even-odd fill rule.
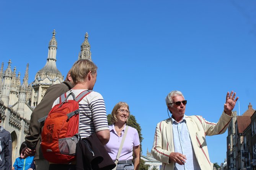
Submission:
[[[48,46],[48,57],[45,66],[37,72],[33,82],[31,106],[37,106],[47,88],[53,84],[63,82],[63,76],[56,67],[57,40],[55,39],[55,30],[52,32],[52,38]]]

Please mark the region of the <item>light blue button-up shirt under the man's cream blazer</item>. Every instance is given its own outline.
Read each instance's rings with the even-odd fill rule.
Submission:
[[[173,144],[174,152],[179,152],[186,156],[184,165],[175,163],[174,170],[201,170],[189,136],[185,115],[181,122],[176,122],[173,118]]]

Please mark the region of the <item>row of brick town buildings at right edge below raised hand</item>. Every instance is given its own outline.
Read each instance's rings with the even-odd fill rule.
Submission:
[[[243,115],[231,120],[227,136],[227,170],[249,170],[253,166],[253,149],[256,148],[256,143],[252,140],[256,128],[254,113],[255,110],[249,103],[248,110]]]

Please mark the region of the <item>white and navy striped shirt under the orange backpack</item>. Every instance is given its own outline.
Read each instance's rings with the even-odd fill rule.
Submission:
[[[67,91],[67,95],[72,92],[75,94],[75,96],[78,96],[82,91],[85,90],[71,89]],[[68,99],[72,99],[72,96],[70,96]],[[54,101],[53,106],[56,104],[59,104],[59,98]],[[91,134],[101,130],[109,130],[106,107],[101,94],[92,91],[90,94],[86,95],[79,102],[79,110],[79,134],[82,138],[86,138]]]

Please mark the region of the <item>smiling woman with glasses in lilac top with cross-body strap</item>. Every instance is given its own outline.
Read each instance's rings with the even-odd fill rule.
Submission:
[[[111,123],[109,126],[110,139],[105,145],[109,156],[116,160],[126,123],[130,115],[129,106],[125,102],[119,102],[114,106],[111,113]],[[132,152],[134,152],[134,165],[132,164]],[[117,170],[138,170],[140,165],[140,140],[135,128],[129,127],[127,136],[122,147],[122,151],[117,163]]]

